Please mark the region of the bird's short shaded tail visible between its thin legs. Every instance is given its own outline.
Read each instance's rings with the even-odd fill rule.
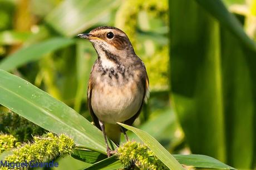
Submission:
[[[117,146],[119,146],[121,136],[120,125],[109,123],[104,123],[104,125],[107,137],[109,137],[113,142],[116,143]]]

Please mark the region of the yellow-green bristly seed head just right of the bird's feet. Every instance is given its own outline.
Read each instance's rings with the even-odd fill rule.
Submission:
[[[116,154],[125,167],[135,164],[140,169],[168,169],[146,145],[135,141],[121,145]]]

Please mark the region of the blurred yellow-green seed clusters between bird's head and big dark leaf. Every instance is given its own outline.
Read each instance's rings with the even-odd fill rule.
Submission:
[[[168,89],[168,1],[125,1],[117,11],[115,25],[124,30],[146,63],[151,89]]]

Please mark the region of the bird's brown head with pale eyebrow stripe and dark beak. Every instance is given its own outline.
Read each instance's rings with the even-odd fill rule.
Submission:
[[[92,29],[90,33],[78,34],[77,37],[90,40],[100,58],[106,53],[120,58],[134,54],[134,48],[127,35],[115,27],[97,27]]]

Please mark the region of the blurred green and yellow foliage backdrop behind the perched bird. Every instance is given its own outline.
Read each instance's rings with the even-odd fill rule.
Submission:
[[[171,153],[256,168],[255,0],[0,0],[0,69],[91,120],[97,55],[76,35],[102,25],[124,30],[147,68],[150,99],[135,126]]]

